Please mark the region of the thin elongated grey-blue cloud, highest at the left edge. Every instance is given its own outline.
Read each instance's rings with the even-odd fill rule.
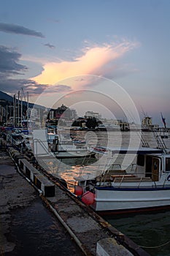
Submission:
[[[37,32],[32,29],[27,29],[24,26],[8,24],[8,23],[0,23],[0,31],[6,32],[6,33],[13,33],[13,34],[25,34],[25,35],[34,36],[34,37],[42,37],[42,38],[45,37],[41,32]]]

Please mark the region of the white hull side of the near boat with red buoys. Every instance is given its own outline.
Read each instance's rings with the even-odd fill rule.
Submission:
[[[96,189],[96,211],[123,211],[170,206],[170,188],[163,190],[100,190]]]

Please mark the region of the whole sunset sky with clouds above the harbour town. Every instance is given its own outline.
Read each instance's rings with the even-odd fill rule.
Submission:
[[[169,12],[169,0],[1,1],[0,90],[80,115],[161,125],[162,112],[170,127]]]

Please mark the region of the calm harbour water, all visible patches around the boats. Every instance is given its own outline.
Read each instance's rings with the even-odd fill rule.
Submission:
[[[77,137],[81,139],[88,140],[91,144],[100,144],[101,146],[138,146],[139,135],[136,132],[77,132]],[[152,132],[147,132],[144,134],[144,138],[147,139],[150,146],[155,147],[155,138]],[[169,139],[165,142],[170,148]],[[131,163],[131,159],[121,159],[122,164],[125,167],[128,163]],[[118,161],[120,159],[116,159]],[[66,179],[71,185],[74,184],[74,177],[79,176],[80,173],[85,173],[90,175],[91,173],[96,173],[101,170],[101,165],[98,165],[98,159],[66,159],[62,165],[58,168],[58,173]],[[105,165],[104,160],[102,161]],[[81,165],[86,164],[87,166],[82,167]],[[55,174],[55,170],[53,170]],[[168,256],[170,255],[170,211],[159,211],[156,213],[149,214],[131,214],[131,215],[119,215],[119,216],[109,216],[107,221],[111,223],[121,232],[125,233],[129,238],[131,238],[139,246],[144,246],[144,249],[154,256]],[[169,243],[168,243],[169,242]],[[164,245],[163,245],[164,244]],[[162,246],[161,246],[162,245]],[[155,247],[156,246],[156,247]],[[147,248],[145,248],[147,247]],[[155,247],[155,248],[148,248]]]

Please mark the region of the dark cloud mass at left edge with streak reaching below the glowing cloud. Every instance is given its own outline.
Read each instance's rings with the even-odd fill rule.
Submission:
[[[27,70],[26,66],[18,63],[20,58],[21,54],[13,48],[0,45],[0,88],[2,91],[8,94],[16,94],[23,88],[32,96],[42,94],[43,91],[47,94],[72,91],[71,87],[62,84],[51,86],[49,83],[36,83],[32,79],[14,79],[15,75],[21,75],[22,72]]]

